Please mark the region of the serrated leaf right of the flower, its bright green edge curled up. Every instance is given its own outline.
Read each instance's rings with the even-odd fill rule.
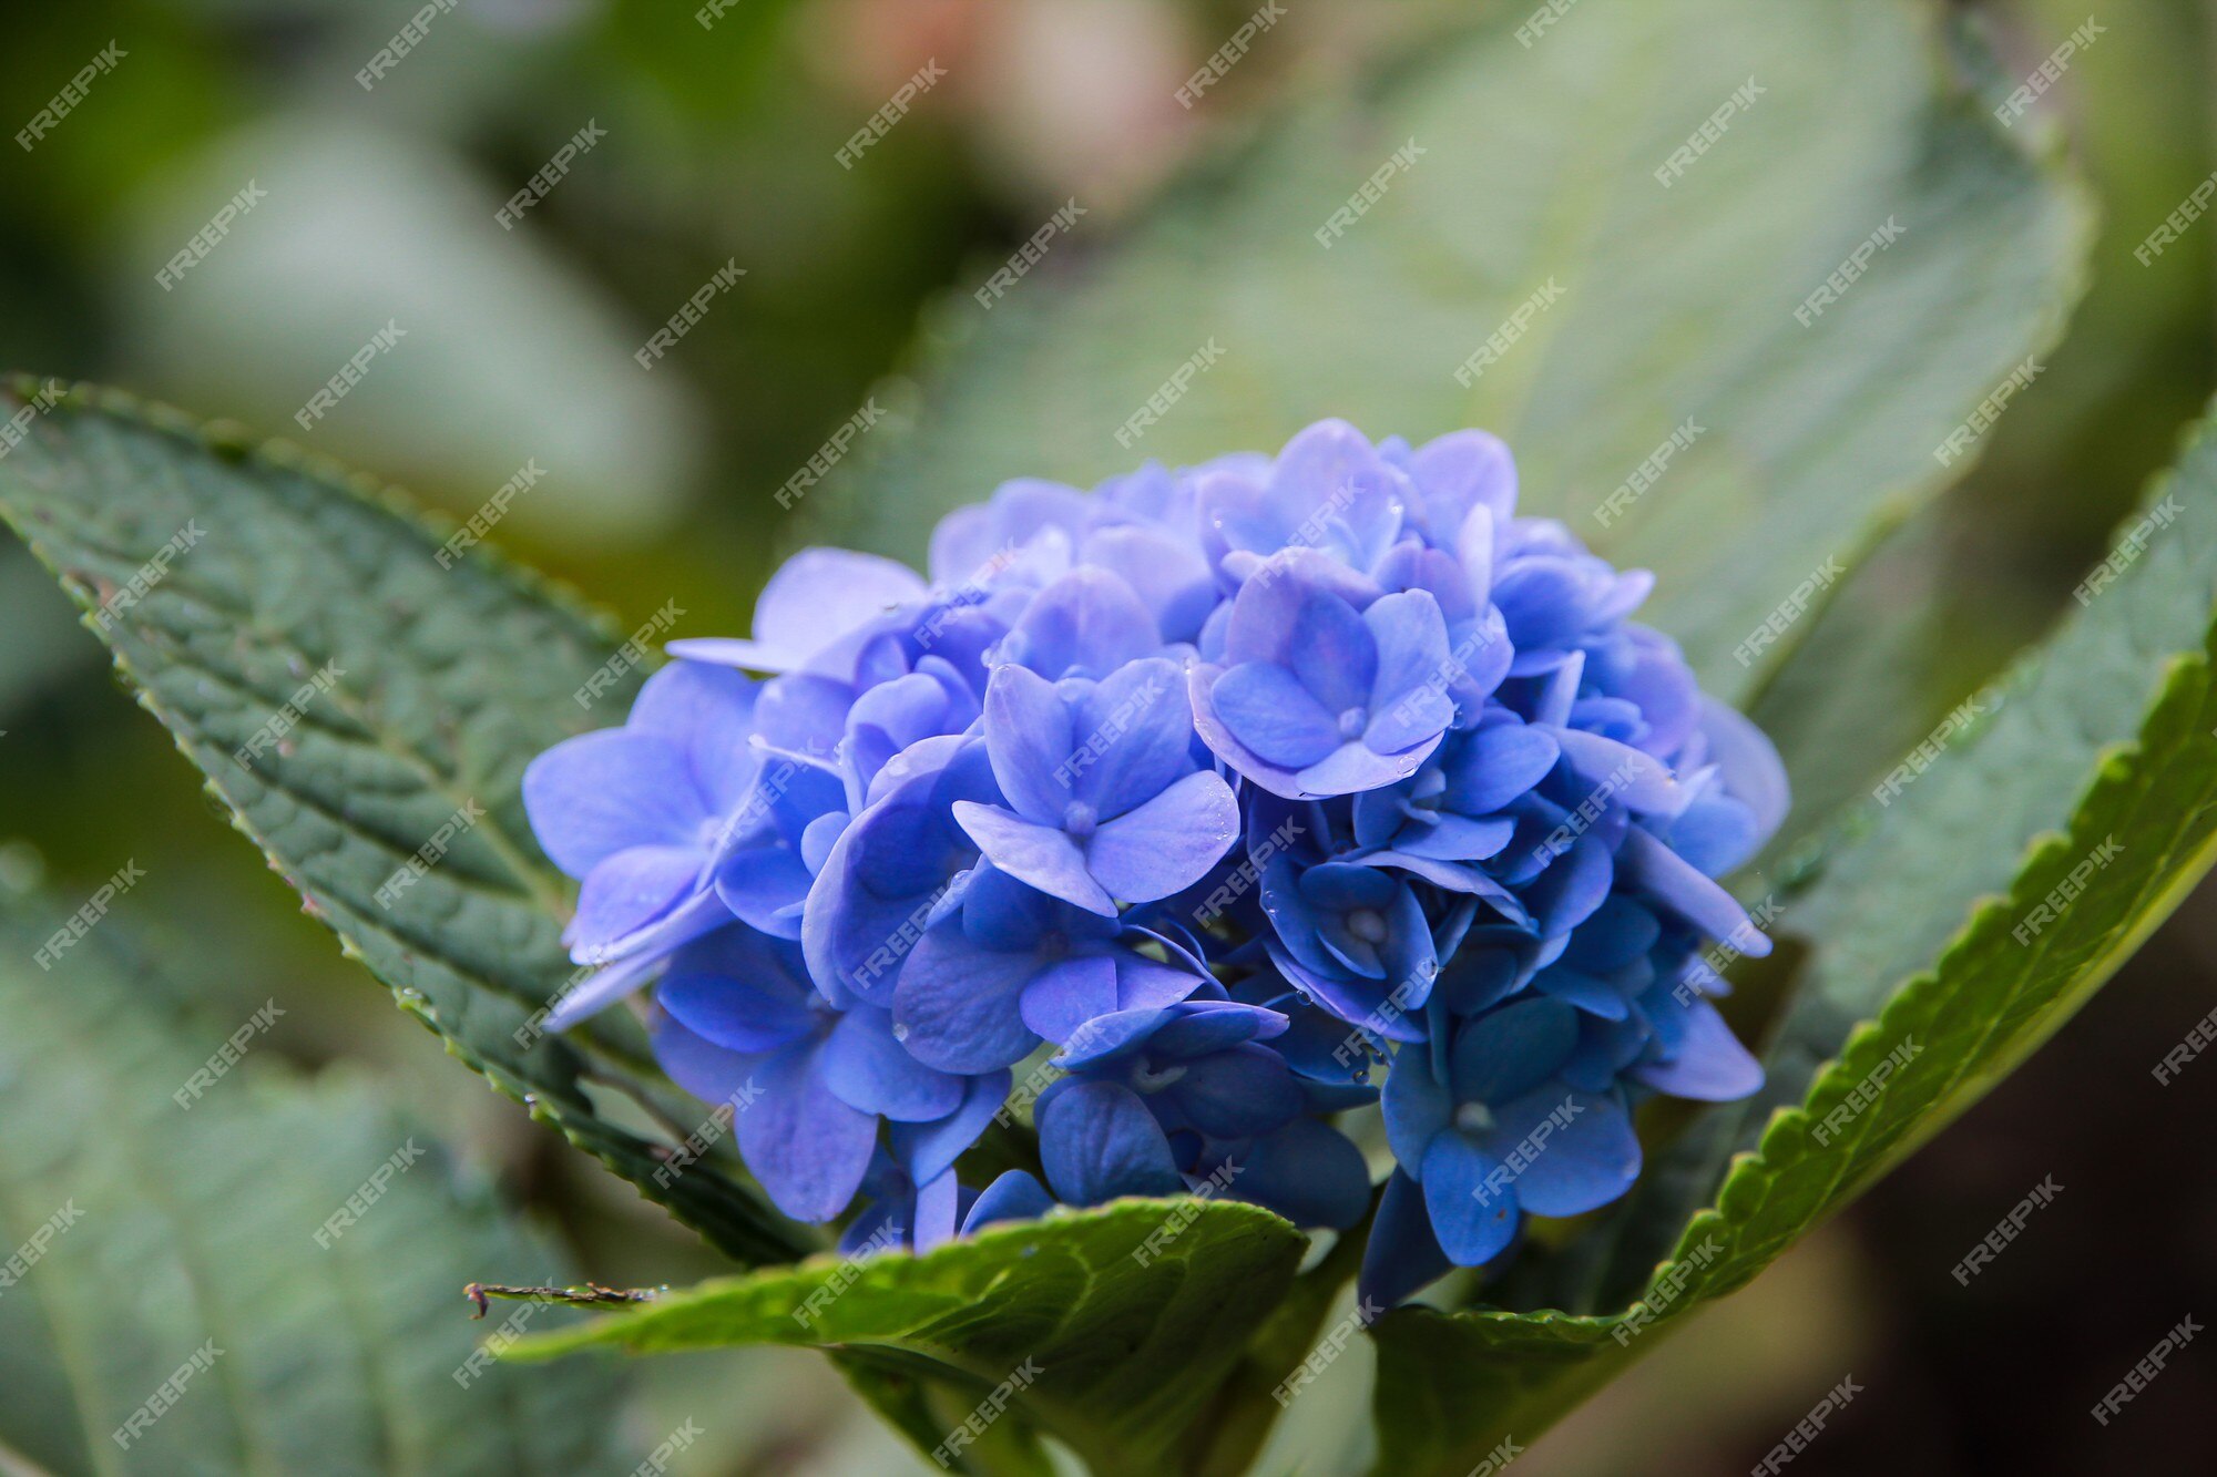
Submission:
[[[1388,1470],[1528,1442],[1978,1102],[2217,858],[2217,432],[2208,424],[2002,705],[1831,852],[1778,927],[1811,943],[1714,1209],[1607,1317],[1408,1308],[1379,1326]],[[2046,911],[2040,911],[2046,909]],[[1891,1067],[1884,1067],[1891,1062]],[[2153,1067],[2153,1062],[2150,1062]],[[1763,1122],[1760,1113],[1776,1109]],[[1712,1180],[1714,1182],[1714,1180]],[[1652,1317],[1649,1317],[1652,1315]]]

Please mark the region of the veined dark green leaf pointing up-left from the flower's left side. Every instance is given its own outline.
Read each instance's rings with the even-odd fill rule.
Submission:
[[[24,404],[49,401],[0,388],[0,412]],[[0,519],[86,608],[233,825],[448,1051],[734,1257],[814,1244],[718,1162],[656,1180],[658,1144],[603,1111],[623,1093],[632,1122],[681,1111],[636,1029],[528,1025],[572,971],[523,765],[623,714],[621,632],[486,548],[441,568],[439,534],[390,490],[109,390],[35,415],[0,459]],[[588,705],[592,681],[605,696]]]

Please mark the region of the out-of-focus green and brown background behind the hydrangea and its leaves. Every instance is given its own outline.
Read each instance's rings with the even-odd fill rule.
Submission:
[[[408,337],[308,441],[454,517],[537,459],[545,479],[499,543],[619,614],[676,599],[685,630],[738,632],[798,537],[776,490],[867,399],[913,408],[907,375],[944,337],[949,295],[967,297],[1066,197],[1100,228],[1051,268],[1082,271],[1195,151],[1472,7],[1293,0],[1195,111],[1173,91],[1244,0],[740,0],[712,27],[683,0],[461,0],[364,91],[355,71],[415,9],[18,7],[0,47],[13,113],[109,40],[129,60],[35,151],[0,157],[0,366],[293,432],[306,393],[397,319]],[[2086,18],[2084,0],[1975,11],[2009,75]],[[2095,189],[2091,291],[1971,477],[1858,570],[1811,659],[1765,696],[1758,719],[1845,756],[1805,787],[1807,807],[1864,790],[2053,621],[2217,388],[2217,226],[2148,268],[2133,259],[2217,166],[2217,4],[2135,0],[2095,18],[2099,44],[2020,124],[2060,131]],[[834,151],[927,58],[947,80],[838,169]],[[492,211],[588,122],[605,140],[503,231]],[[160,288],[155,268],[251,180],[268,202]],[[632,350],[725,262],[747,275],[641,373]],[[0,730],[0,867],[82,894],[135,860],[146,880],[118,911],[171,974],[217,1016],[242,1020],[270,994],[286,1005],[264,1051],[366,1062],[603,1282],[716,1271],[446,1062],[293,914],[13,543]],[[2188,1351],[2128,1422],[2102,1430],[2084,1410],[2150,1328],[2217,1306],[2217,1193],[2193,1131],[2217,1107],[2217,1071],[2157,1096],[2142,1069],[2213,998],[2217,929],[2188,905],[2026,1071],[1519,1470],[1745,1468],[1845,1371],[1869,1393],[1800,1473],[2197,1470],[2184,1453],[2217,1395],[2206,1355]],[[2166,1167],[2179,1178],[2139,1189]],[[1947,1269],[2044,1173],[2068,1193],[1960,1288]],[[1261,1470],[1350,1470],[1363,1364],[1344,1359],[1299,1402]],[[687,1355],[638,1375],[636,1408],[610,1413],[632,1446],[687,1415],[707,1433],[672,1470],[913,1468],[809,1355]]]

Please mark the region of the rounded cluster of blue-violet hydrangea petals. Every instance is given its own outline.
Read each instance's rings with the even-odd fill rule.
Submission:
[[[1712,878],[1787,790],[1652,577],[1514,506],[1485,432],[1321,421],[1004,483],[929,579],[796,554],[525,774],[601,967],[550,1025],[656,980],[670,1076],[851,1246],[1182,1191],[1350,1229],[1372,1102],[1375,1300],[1616,1200],[1638,1100],[1760,1082],[1703,949],[1767,951]],[[1042,1173],[962,1184],[1024,1107]]]

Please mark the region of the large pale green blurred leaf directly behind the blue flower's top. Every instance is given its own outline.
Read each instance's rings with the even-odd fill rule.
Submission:
[[[1275,450],[1328,415],[1412,441],[1483,426],[1516,452],[1523,510],[1652,568],[1645,619],[1745,696],[1785,643],[1734,648],[1962,472],[1935,448],[2082,291],[2080,186],[1966,95],[1938,11],[1585,0],[1525,47],[1530,7],[1496,7],[1377,82],[1310,78],[1102,259],[1066,266],[1106,233],[1080,217],[991,308],[951,302],[913,428],[873,430],[876,464],[816,519],[913,559],[1002,477],[1091,486],[1142,457]],[[1749,78],[1760,95],[1665,189]],[[1423,153],[1319,244],[1410,140]],[[1898,240],[1802,326],[1887,222]],[[1556,302],[1459,384],[1550,282]],[[1204,344],[1222,357],[1122,446]],[[1687,419],[1692,446],[1603,528]]]

